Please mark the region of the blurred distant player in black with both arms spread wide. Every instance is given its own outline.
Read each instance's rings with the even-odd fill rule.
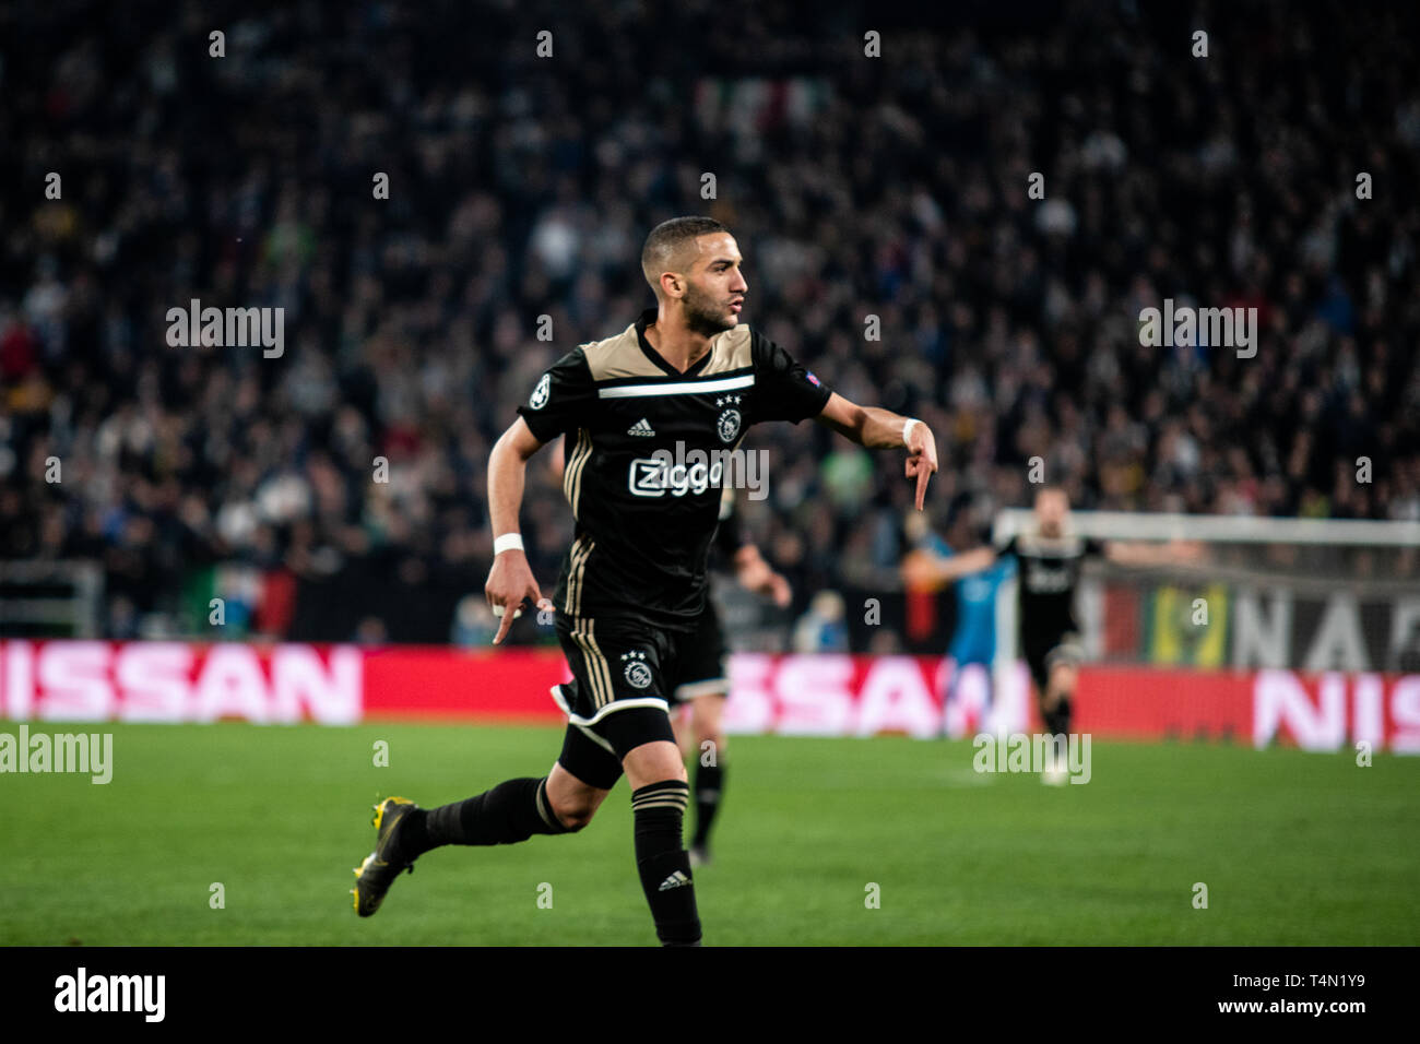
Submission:
[[[1035,494],[1031,527],[998,548],[978,547],[932,564],[941,581],[990,570],[998,558],[1014,555],[1020,567],[1017,616],[1021,655],[1031,669],[1037,707],[1045,729],[1056,736],[1056,750],[1069,736],[1075,683],[1083,646],[1075,622],[1075,588],[1086,555],[1103,555],[1116,565],[1163,565],[1191,558],[1197,548],[1183,543],[1166,547],[1108,541],[1071,533],[1069,497],[1059,486],[1042,486]],[[1041,776],[1058,785],[1066,780],[1059,761]]]

